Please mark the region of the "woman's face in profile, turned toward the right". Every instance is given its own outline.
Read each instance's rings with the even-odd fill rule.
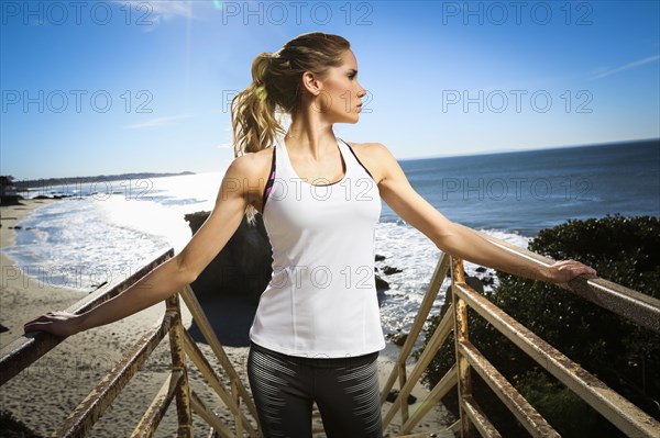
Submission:
[[[351,50],[344,50],[340,67],[331,67],[319,79],[320,93],[312,110],[323,113],[331,123],[356,123],[362,109],[361,99],[366,91],[358,82],[358,61]]]

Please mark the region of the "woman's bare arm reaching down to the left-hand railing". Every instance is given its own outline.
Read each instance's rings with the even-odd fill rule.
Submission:
[[[261,181],[254,161],[254,157],[243,156],[231,164],[220,184],[213,211],[176,257],[84,314],[50,312],[26,323],[24,330],[69,336],[140,312],[195,281],[237,231],[248,204],[258,198],[256,188]]]

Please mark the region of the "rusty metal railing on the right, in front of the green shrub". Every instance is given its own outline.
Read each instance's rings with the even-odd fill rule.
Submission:
[[[538,254],[515,247],[486,234],[481,235],[495,245],[537,263],[546,266],[552,263],[552,260]],[[428,340],[415,367],[407,374],[406,362],[413,352],[414,345],[424,328],[450,268],[452,278],[451,288],[448,288],[446,296],[447,312]],[[660,333],[659,300],[603,279],[586,280],[578,278],[561,287],[628,318],[639,326]],[[398,396],[384,415],[384,427],[387,427],[395,415],[399,413],[402,417],[399,436],[416,436],[406,434],[410,434],[431,407],[439,403],[454,386],[458,386],[460,419],[449,426],[447,430],[460,434],[462,437],[473,436],[474,431],[483,437],[499,437],[499,433],[473,397],[471,377],[473,372],[476,372],[531,436],[559,437],[552,426],[470,342],[468,307],[473,308],[502,335],[512,340],[539,366],[554,375],[627,436],[648,438],[660,436],[660,423],[474,291],[465,283],[462,260],[447,255],[442,255],[438,261],[396,366],[382,389],[381,403],[384,405],[394,384],[397,380],[399,382]],[[405,401],[452,332],[454,333],[457,362],[421,401],[421,407],[410,414]],[[441,433],[441,430],[438,430],[438,433]],[[426,434],[428,436],[428,433]]]

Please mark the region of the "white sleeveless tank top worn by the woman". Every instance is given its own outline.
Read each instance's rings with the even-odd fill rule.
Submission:
[[[381,196],[351,147],[337,144],[345,173],[333,183],[302,180],[284,138],[274,146],[263,210],[273,274],[250,337],[285,355],[340,358],[385,347],[374,280]]]

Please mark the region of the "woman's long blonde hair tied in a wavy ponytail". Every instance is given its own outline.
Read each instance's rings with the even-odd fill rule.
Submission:
[[[257,55],[252,61],[252,83],[231,100],[234,156],[271,147],[277,135],[284,135],[283,113],[296,114],[302,102],[302,74],[311,71],[322,78],[330,67],[342,65],[341,55],[350,48],[339,35],[310,32],[275,53]],[[254,213],[249,206],[250,222]]]

